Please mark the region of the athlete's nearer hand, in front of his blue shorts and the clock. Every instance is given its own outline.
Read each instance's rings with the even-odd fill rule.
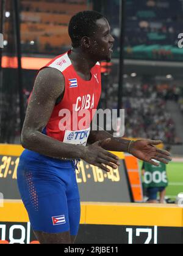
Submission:
[[[105,140],[96,141],[90,146],[86,146],[84,148],[84,157],[82,157],[82,159],[88,162],[88,164],[95,165],[107,172],[110,170],[104,165],[117,169],[117,166],[120,165],[119,157],[102,148],[102,145],[109,141],[110,138],[107,138]]]

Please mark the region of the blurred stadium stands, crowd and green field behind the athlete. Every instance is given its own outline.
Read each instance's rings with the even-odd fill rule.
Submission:
[[[99,107],[125,109],[124,137],[171,146],[167,198],[174,201],[183,189],[183,48],[178,47],[183,0],[1,0],[0,5],[0,143],[20,144],[37,70],[71,47],[70,18],[97,10],[115,38],[112,61],[101,63]]]

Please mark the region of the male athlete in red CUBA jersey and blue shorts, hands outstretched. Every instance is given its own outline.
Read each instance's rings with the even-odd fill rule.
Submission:
[[[106,18],[93,11],[74,15],[68,31],[72,48],[38,72],[21,134],[26,149],[20,157],[18,187],[40,243],[74,243],[80,219],[77,159],[104,171],[120,165],[108,150],[130,152],[154,165],[152,159],[166,164],[171,160],[167,151],[154,146],[161,141],[132,142],[90,130],[101,95],[98,61],[111,58],[114,39]],[[67,115],[62,115],[64,109]],[[82,124],[85,110],[91,115]]]

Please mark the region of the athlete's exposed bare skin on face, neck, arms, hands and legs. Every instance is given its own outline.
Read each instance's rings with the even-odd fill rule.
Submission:
[[[84,80],[90,80],[90,70],[96,62],[109,60],[112,55],[114,39],[110,34],[109,23],[106,18],[101,18],[96,24],[98,29],[93,36],[82,37],[81,45],[73,48],[69,56],[77,74]],[[109,171],[104,164],[117,168],[117,165],[120,165],[118,157],[107,150],[127,152],[130,140],[113,138],[105,131],[91,130],[88,137],[88,143],[91,144],[84,147],[63,143],[41,133],[49,121],[57,99],[62,100],[64,90],[65,81],[59,70],[48,67],[38,73],[21,133],[23,147],[57,159],[62,157],[83,159],[104,171]],[[137,140],[131,143],[129,152],[138,159],[154,165],[157,164],[151,159],[167,164],[168,160],[171,160],[170,153],[154,146],[159,143],[161,141]],[[70,236],[70,232],[54,234],[34,231],[34,233],[40,243],[74,243],[75,239],[75,236]]]

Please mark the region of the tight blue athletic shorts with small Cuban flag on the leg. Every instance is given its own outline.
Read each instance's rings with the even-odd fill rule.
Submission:
[[[74,160],[59,160],[25,149],[17,181],[35,231],[77,235],[80,198]]]

